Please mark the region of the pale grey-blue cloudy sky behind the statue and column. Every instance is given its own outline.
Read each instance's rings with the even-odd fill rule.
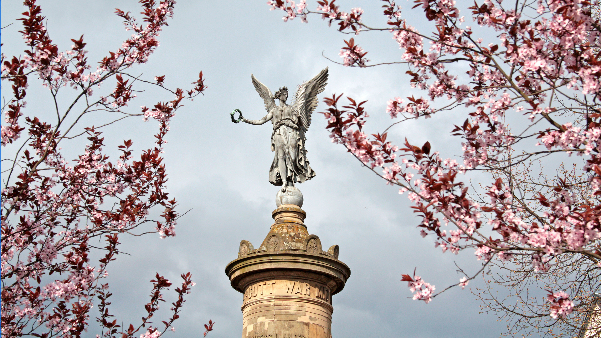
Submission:
[[[314,2],[308,2],[314,8]],[[364,8],[365,22],[385,26],[379,1],[338,2],[346,11]],[[113,14],[114,8],[139,12],[136,1],[39,3],[50,37],[59,49],[69,49],[70,38],[84,34],[91,64],[118,49],[129,35]],[[2,52],[18,55],[24,45],[15,19],[25,8],[16,0],[2,0],[0,4],[2,26],[14,22],[2,30]],[[404,7],[412,7],[412,2]],[[406,15],[413,25],[424,27],[426,32],[432,30],[419,11],[407,10]],[[151,289],[148,281],[155,272],[177,282],[180,273],[191,271],[197,285],[175,322],[175,333],[168,337],[201,336],[203,324],[209,319],[216,322],[211,337],[239,336],[242,295],[231,288],[224,269],[237,257],[241,239],[255,246],[263,240],[272,224],[270,215],[277,191],[267,182],[273,159],[270,124],[252,126],[230,121],[229,112],[235,108],[241,109],[246,118],[266,114],[263,101],[252,87],[251,73],[275,91],[282,85],[295,88],[329,66],[330,80],[322,97],[344,93],[369,99],[366,106],[372,118],[366,127],[368,132],[382,131],[389,123],[385,114],[388,99],[421,96],[409,87],[402,66],[348,69],[326,60],[322,53],[338,61],[343,39],[350,36],[328,28],[319,17],[310,17],[308,24],[298,19],[284,23],[281,17],[282,13],[269,11],[263,0],[181,0],[174,19],[161,34],[160,48],[148,64],[132,70],[147,79],[165,75],[166,85],[183,88],[191,87],[203,70],[209,88],[206,96],[178,110],[167,135],[169,192],[179,201],[180,212],[190,209],[178,222],[177,236],[122,237],[121,250],[130,256],[121,255],[110,269],[109,283],[114,293],[111,312],[125,325],[138,323],[144,315],[143,304]],[[362,33],[355,38],[369,51],[371,60],[398,60],[398,46],[389,33]],[[6,87],[2,83],[3,96]],[[111,84],[106,84],[97,94],[111,90]],[[64,88],[61,105],[67,105],[73,93]],[[49,93],[31,80],[25,114],[49,118],[49,99]],[[138,112],[141,105],[170,99],[167,93],[147,88],[130,108]],[[317,111],[324,106],[321,103]],[[110,117],[89,117],[82,128],[98,125],[106,118]],[[448,114],[438,120],[406,123],[393,129],[389,139],[401,143],[407,137],[413,144],[429,140],[433,149],[457,154],[459,146],[456,139],[451,139],[450,131],[454,123],[462,121],[459,114]],[[124,139],[132,139],[138,150],[151,147],[156,126],[141,118],[125,120],[105,130],[105,150],[115,156],[116,146]],[[309,232],[318,235],[326,248],[340,245],[340,259],[352,271],[344,290],[334,296],[332,336],[498,337],[505,322],[498,322],[495,315],[480,314],[480,303],[467,288],[450,290],[430,304],[409,298],[411,293],[400,281],[401,274],[417,268],[418,275],[437,289],[444,289],[463,277],[457,274],[453,262],[471,273],[478,270],[478,262],[472,252],[441,254],[433,247],[434,238],[421,238],[415,227],[418,218],[409,209],[406,195],[398,195],[397,189],[361,167],[343,147],[332,144],[325,126],[322,115],[314,115],[307,149],[317,176],[299,188],[305,197],[303,209]],[[66,158],[75,158],[84,141],[64,146]],[[11,151],[11,147],[2,149],[2,158]],[[482,284],[474,281],[469,286],[477,292],[475,288]],[[174,298],[168,294],[166,299]],[[88,334],[93,337],[96,333],[99,330],[92,325]]]

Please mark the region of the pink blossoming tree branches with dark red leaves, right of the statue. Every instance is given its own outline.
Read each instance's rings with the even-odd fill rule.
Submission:
[[[462,147],[456,161],[441,155],[442,145],[395,144],[389,129],[368,134],[365,102],[334,94],[323,112],[333,141],[408,193],[421,235],[434,236],[436,247],[474,250],[482,269],[450,287],[482,274],[486,287],[476,294],[486,311],[511,321],[508,333],[578,334],[601,284],[599,3],[484,0],[463,8],[466,18],[453,0],[418,0],[413,8],[432,24],[424,33],[392,0],[383,0],[380,28],[363,22],[361,8],[346,12],[335,1],[317,1],[316,10],[305,0],[267,4],[285,11],[284,21],[316,14],[344,34],[391,34],[397,60],[370,63],[355,38],[340,51],[344,66],[404,67],[410,85],[426,92],[391,98],[391,127],[464,116],[448,129]],[[440,293],[415,272],[403,280],[414,300]]]

